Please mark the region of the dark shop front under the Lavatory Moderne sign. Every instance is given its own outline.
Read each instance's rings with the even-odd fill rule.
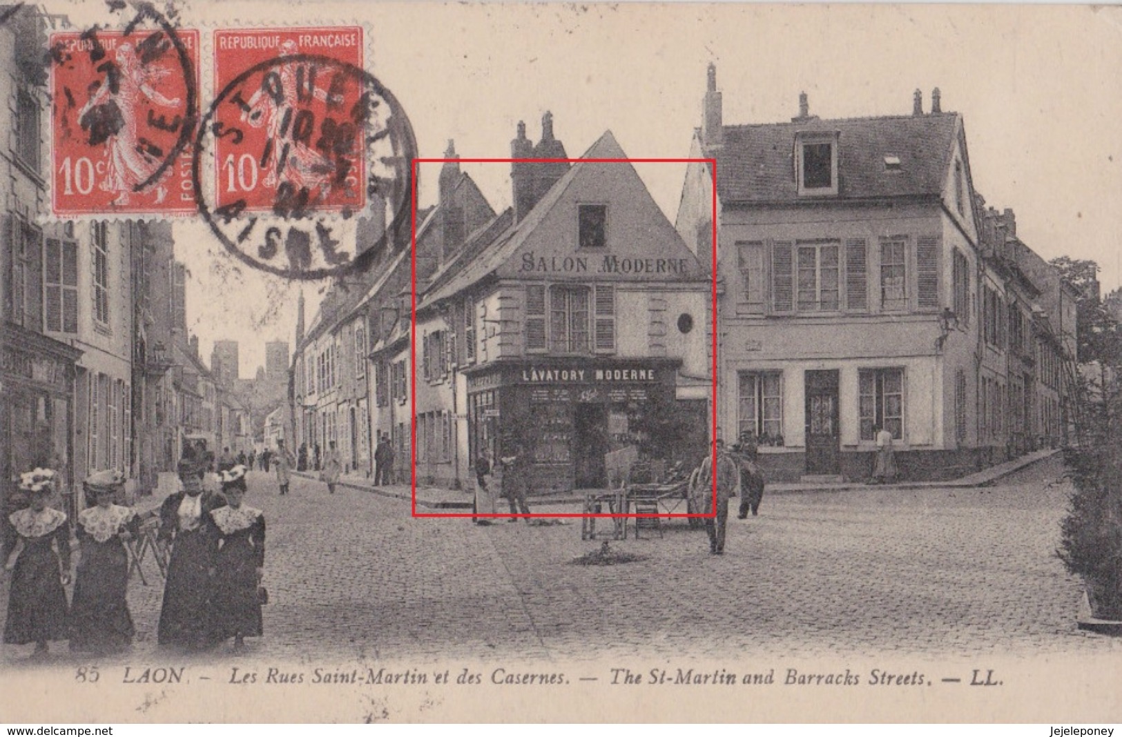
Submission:
[[[678,359],[543,358],[496,362],[468,375],[469,452],[534,459],[534,492],[604,488],[604,455],[635,445],[683,453],[697,424],[675,400]],[[700,437],[705,443],[703,425]]]

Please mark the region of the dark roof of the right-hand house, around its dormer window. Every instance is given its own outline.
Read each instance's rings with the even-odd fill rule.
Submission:
[[[824,199],[937,195],[958,121],[958,113],[944,112],[725,126],[724,146],[716,149],[717,192],[725,203],[807,201],[797,188],[795,133],[838,131],[838,193]],[[889,171],[885,156],[898,157],[900,171]]]

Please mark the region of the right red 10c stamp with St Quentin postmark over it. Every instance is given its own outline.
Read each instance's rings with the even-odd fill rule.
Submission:
[[[282,214],[366,205],[361,126],[348,108],[362,28],[214,33],[219,209]]]

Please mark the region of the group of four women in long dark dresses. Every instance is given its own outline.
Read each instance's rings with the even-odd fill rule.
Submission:
[[[260,586],[265,563],[265,517],[242,504],[246,468],[219,475],[221,492],[203,489],[204,471],[180,464],[182,490],[159,508],[158,538],[171,547],[157,642],[185,651],[205,650],[233,638],[261,635]],[[80,561],[74,593],[71,580],[71,526],[66,514],[48,506],[55,473],[36,469],[20,477],[29,506],[10,515],[13,534],[4,541],[10,573],[3,642],[35,643],[33,657],[47,654],[50,641],[70,639],[74,652],[110,654],[127,650],[136,632],[126,593],[129,553],[141,519],[114,504],[125,478],[101,471],[84,482],[94,504],[77,515],[74,534]]]

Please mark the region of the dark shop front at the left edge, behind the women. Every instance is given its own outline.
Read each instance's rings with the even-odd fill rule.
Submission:
[[[74,518],[74,371],[82,351],[6,323],[0,343],[0,489],[3,509],[20,504],[19,475],[54,469],[63,509]],[[7,518],[7,514],[4,515]]]

